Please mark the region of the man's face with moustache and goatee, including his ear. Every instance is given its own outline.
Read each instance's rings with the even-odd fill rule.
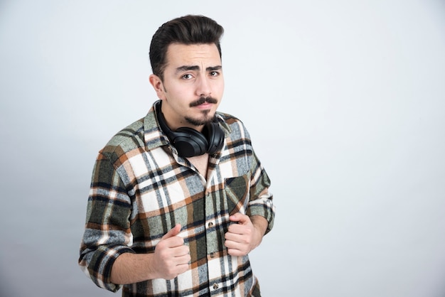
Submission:
[[[215,44],[168,45],[163,81],[150,76],[168,126],[201,130],[215,117],[224,91],[220,54]]]

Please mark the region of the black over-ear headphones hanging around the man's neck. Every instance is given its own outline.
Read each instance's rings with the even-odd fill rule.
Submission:
[[[159,100],[154,106],[159,126],[167,134],[171,144],[178,150],[179,156],[188,158],[200,156],[204,153],[212,155],[223,148],[224,131],[220,128],[216,119],[205,124],[203,133],[188,127],[181,127],[176,129],[176,131],[171,131],[161,112],[161,103],[161,100]]]

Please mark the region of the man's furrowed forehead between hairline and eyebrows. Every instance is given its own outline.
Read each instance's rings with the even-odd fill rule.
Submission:
[[[168,45],[166,66],[181,67],[183,65],[221,65],[218,48],[214,43],[205,44],[180,44]]]

